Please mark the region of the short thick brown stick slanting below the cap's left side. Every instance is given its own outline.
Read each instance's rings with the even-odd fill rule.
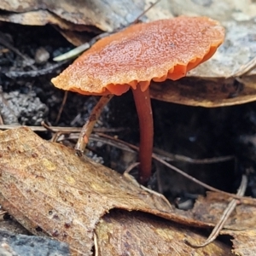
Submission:
[[[84,148],[89,142],[90,133],[93,130],[94,125],[96,124],[97,119],[99,119],[103,108],[108,104],[112,99],[113,95],[102,96],[99,102],[96,103],[96,106],[92,109],[89,119],[84,124],[80,134],[77,144],[75,145],[76,154],[82,156],[84,153]]]

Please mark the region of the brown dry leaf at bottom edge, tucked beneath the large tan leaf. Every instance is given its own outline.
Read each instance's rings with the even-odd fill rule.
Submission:
[[[204,241],[206,237],[181,225],[142,212],[111,211],[96,226],[99,255],[233,255],[230,247],[214,241],[194,249],[184,239]]]

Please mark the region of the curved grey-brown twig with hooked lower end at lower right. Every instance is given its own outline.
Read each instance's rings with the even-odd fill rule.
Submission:
[[[246,189],[247,189],[247,177],[243,175],[241,177],[241,184],[236,195],[240,195],[240,196],[244,195]],[[212,241],[214,241],[217,238],[217,236],[219,235],[219,232],[223,229],[224,224],[230,217],[230,214],[235,210],[237,203],[238,201],[236,199],[232,199],[230,201],[228,207],[224,210],[222,217],[219,219],[218,224],[216,224],[215,228],[212,230],[211,235],[207,238],[207,241],[199,245],[193,244],[188,240],[185,240],[184,242],[187,245],[189,245],[189,247],[193,247],[193,248],[206,247],[208,244],[210,244]]]

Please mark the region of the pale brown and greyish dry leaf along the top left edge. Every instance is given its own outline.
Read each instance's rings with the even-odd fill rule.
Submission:
[[[138,0],[3,0],[0,9],[15,13],[47,9],[73,24],[96,26],[102,31],[110,32],[136,20],[143,12],[144,5],[143,1]]]

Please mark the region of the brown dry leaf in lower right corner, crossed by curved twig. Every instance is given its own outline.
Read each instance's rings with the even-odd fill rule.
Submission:
[[[216,224],[227,207],[230,198],[208,192],[207,197],[199,197],[187,216],[206,223]],[[241,204],[228,218],[221,235],[233,236],[234,253],[241,256],[256,255],[256,206]],[[182,214],[183,212],[179,212]]]

